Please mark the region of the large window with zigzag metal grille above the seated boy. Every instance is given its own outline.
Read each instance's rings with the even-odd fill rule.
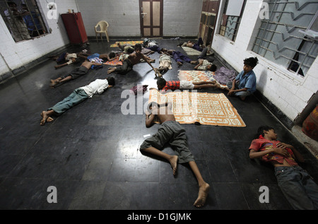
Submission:
[[[252,51],[288,71],[305,76],[317,57],[317,40],[302,31],[318,11],[318,2],[270,0]]]

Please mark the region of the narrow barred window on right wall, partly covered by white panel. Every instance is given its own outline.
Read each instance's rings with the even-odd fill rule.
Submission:
[[[238,2],[238,1],[237,1]],[[220,35],[223,35],[224,37],[228,37],[228,39],[235,41],[237,30],[240,27],[240,21],[242,17],[242,13],[245,8],[245,2],[241,1],[241,4],[238,9],[238,15],[233,16],[233,13],[229,12],[230,7],[236,7],[234,1],[225,1],[224,11],[221,18],[221,24],[220,24]]]

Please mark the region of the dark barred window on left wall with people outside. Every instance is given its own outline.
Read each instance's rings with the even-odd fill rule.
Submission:
[[[0,0],[1,16],[16,42],[47,33],[35,0]]]

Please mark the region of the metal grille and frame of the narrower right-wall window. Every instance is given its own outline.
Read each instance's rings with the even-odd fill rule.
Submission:
[[[226,0],[220,24],[220,35],[223,35],[224,37],[228,37],[228,39],[235,41],[238,28],[240,27],[241,17],[245,8],[245,3],[246,1],[244,1],[240,16],[227,16],[225,13],[228,8],[228,0]]]

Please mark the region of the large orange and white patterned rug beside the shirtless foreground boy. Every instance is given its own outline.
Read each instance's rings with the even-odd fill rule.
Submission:
[[[151,88],[148,102],[172,102],[172,112],[180,124],[244,127],[245,122],[223,93],[196,93],[175,90],[166,94]]]

